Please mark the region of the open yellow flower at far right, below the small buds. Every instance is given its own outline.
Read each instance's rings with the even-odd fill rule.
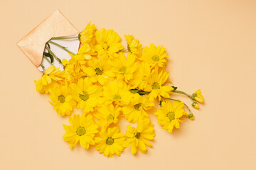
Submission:
[[[183,106],[184,104],[180,101],[174,101],[174,103],[163,101],[161,103],[161,108],[155,113],[158,118],[157,123],[162,125],[162,128],[169,132],[172,132],[174,127],[178,129],[179,123],[181,122],[179,118],[186,115]]]

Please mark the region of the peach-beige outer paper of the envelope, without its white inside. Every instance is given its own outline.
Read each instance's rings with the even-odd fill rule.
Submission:
[[[56,10],[51,16],[31,30],[17,45],[36,67],[42,62],[46,42],[53,37],[78,35],[78,30],[68,21],[63,13]]]

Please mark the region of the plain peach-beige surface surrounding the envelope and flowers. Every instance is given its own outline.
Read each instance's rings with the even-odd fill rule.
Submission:
[[[174,84],[201,88],[206,98],[193,109],[196,120],[169,134],[151,115],[154,148],[135,157],[130,148],[113,159],[68,149],[61,139],[68,118],[36,92],[41,73],[16,46],[56,8],[78,30],[92,21],[123,40],[133,34],[144,46],[164,45]],[[255,9],[249,0],[1,0],[0,169],[256,169]]]

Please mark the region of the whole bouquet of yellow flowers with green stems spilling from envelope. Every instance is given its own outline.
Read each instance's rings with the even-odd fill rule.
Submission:
[[[154,44],[142,47],[132,35],[124,37],[125,49],[114,30],[97,30],[88,23],[76,37],[52,38],[78,38],[82,43],[78,54],[51,40],[46,43],[48,52],[43,57],[51,66],[45,69],[41,64],[43,75],[35,81],[36,91],[49,94],[50,104],[58,115],[70,116],[70,125],[63,125],[66,130],[63,140],[70,148],[79,142],[85,149],[95,146],[100,154],[113,157],[132,145],[132,154],[137,149],[145,154],[155,136],[147,111],[156,101],[161,106],[155,113],[158,123],[169,132],[179,128],[181,117],[194,119],[185,103],[170,98],[172,93],[191,98],[193,108],[199,108],[196,101],[204,101],[200,89],[190,95],[168,85],[169,72],[165,70],[168,55],[164,47]],[[67,51],[70,60],[61,61],[50,45]],[[54,67],[53,60],[63,65],[63,71]],[[74,108],[81,108],[83,113],[72,115]],[[119,130],[121,118],[132,123],[127,125],[125,134]]]

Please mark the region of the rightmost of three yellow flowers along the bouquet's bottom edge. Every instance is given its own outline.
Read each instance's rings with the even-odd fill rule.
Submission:
[[[128,147],[129,145],[132,145],[132,154],[136,154],[137,148],[140,152],[146,154],[146,146],[152,147],[151,143],[147,140],[154,140],[154,125],[150,124],[149,118],[145,118],[144,120],[139,121],[136,129],[131,125],[127,125],[125,136],[129,138],[125,142],[125,146]]]

